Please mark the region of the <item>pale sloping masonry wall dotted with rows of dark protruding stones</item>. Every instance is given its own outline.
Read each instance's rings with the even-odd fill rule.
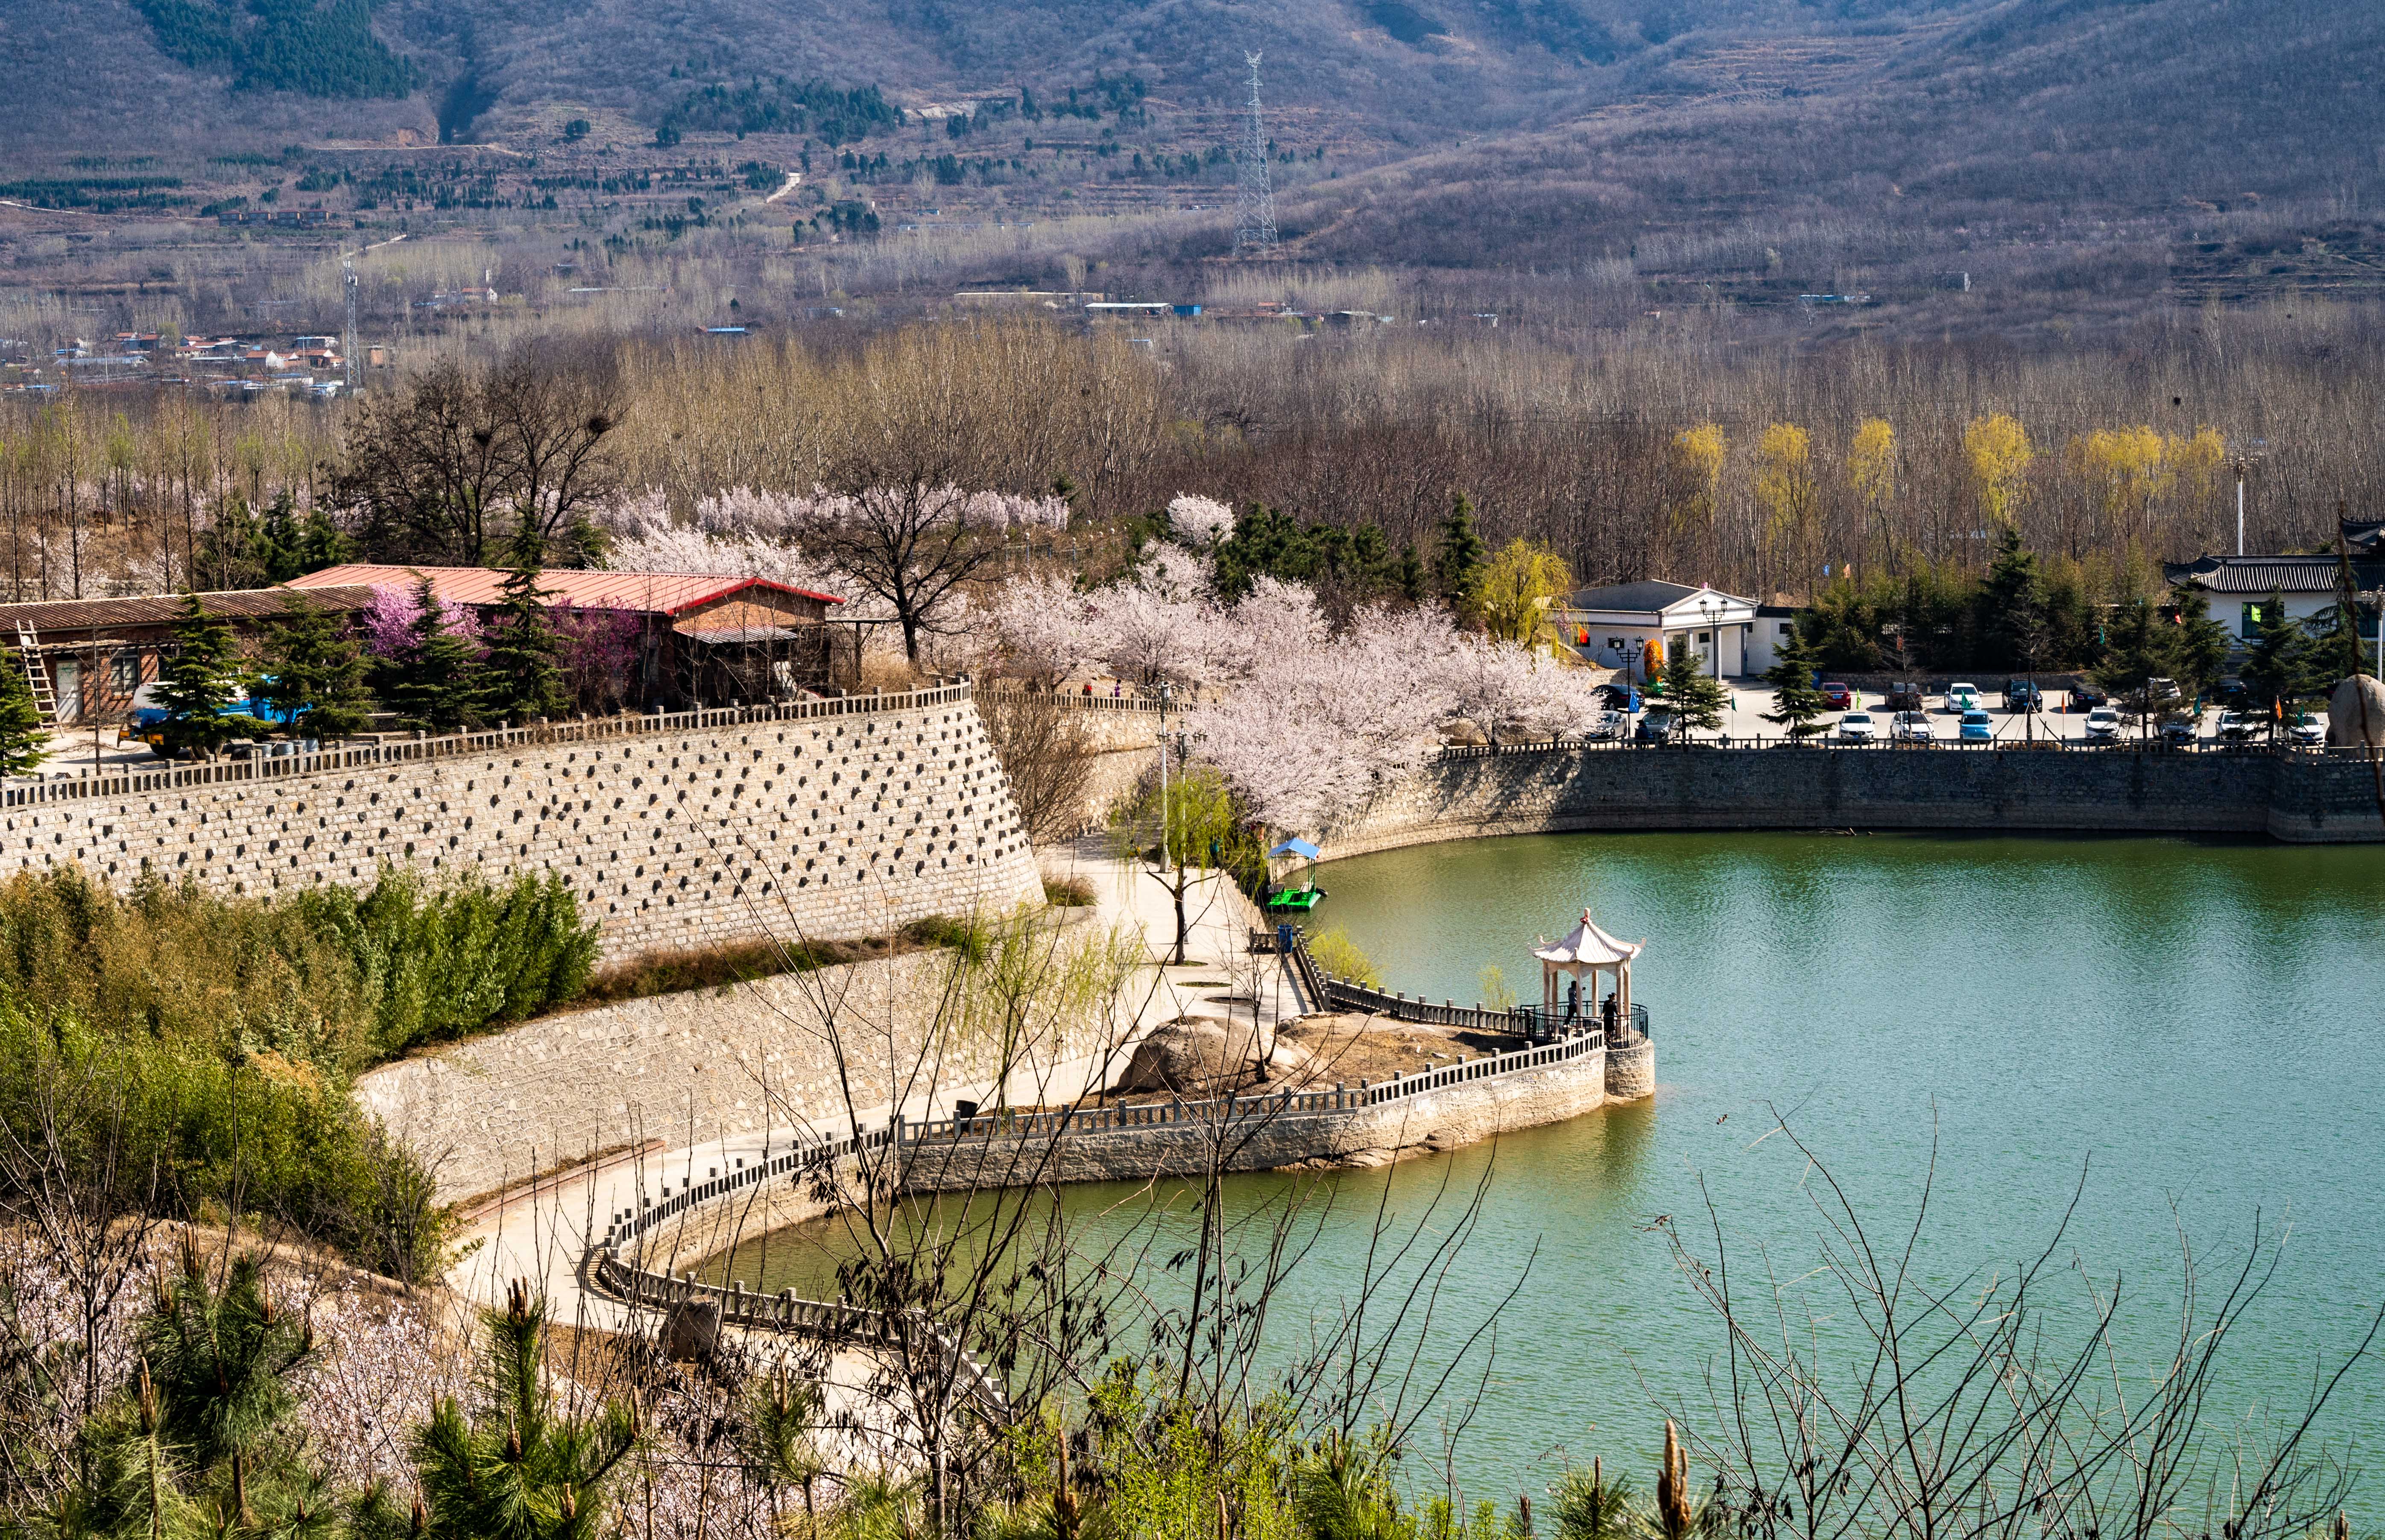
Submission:
[[[79,861],[227,894],[560,873],[608,958],[849,939],[1042,896],[966,691],[890,710],[572,734],[322,775],[0,808],[0,875]],[[167,780],[167,777],[160,777]]]

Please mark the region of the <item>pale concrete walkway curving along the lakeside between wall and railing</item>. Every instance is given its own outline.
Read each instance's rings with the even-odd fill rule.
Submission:
[[[1052,1066],[1035,1082],[1014,1078],[1009,1087],[1014,1101],[1073,1099],[1107,1082],[1126,1066],[1126,1049],[1135,1039],[1181,1016],[1250,1023],[1257,1008],[1262,1020],[1276,1023],[1300,1013],[1300,999],[1283,977],[1278,958],[1247,951],[1250,930],[1264,925],[1264,918],[1226,877],[1202,875],[1188,884],[1185,961],[1169,963],[1176,903],[1169,887],[1147,875],[1150,868],[1119,861],[1097,842],[1042,851],[1040,863],[1049,880],[1080,880],[1095,899],[1090,923],[1140,937],[1150,961],[1128,985],[1130,1025],[1121,1030],[1121,1042],[1107,1054]],[[909,1118],[949,1116],[954,1099],[992,1101],[995,1087],[940,1085],[902,1111]],[[894,1106],[863,1109],[859,1120],[863,1128],[882,1128],[894,1111]],[[446,1283],[465,1299],[487,1304],[503,1299],[508,1280],[529,1278],[544,1285],[556,1321],[618,1330],[627,1311],[582,1287],[580,1268],[613,1213],[637,1206],[639,1187],[653,1199],[735,1170],[739,1161],[754,1166],[797,1144],[816,1144],[842,1132],[849,1132],[842,1118],[770,1128],[558,1173],[467,1223],[458,1235],[463,1256]]]

